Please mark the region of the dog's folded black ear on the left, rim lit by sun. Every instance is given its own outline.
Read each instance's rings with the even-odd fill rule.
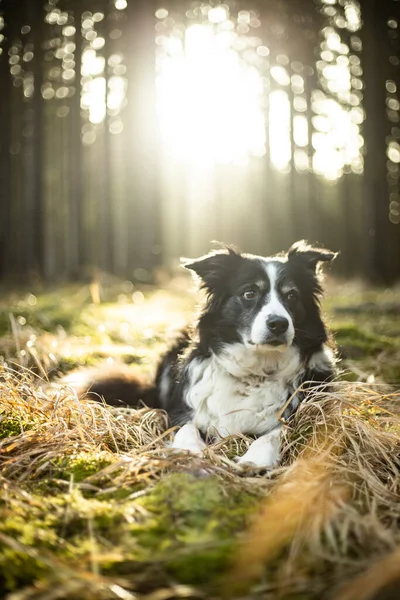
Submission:
[[[232,248],[210,252],[196,260],[185,262],[185,269],[194,271],[201,279],[202,286],[210,292],[222,287],[226,277],[234,269],[241,256]]]

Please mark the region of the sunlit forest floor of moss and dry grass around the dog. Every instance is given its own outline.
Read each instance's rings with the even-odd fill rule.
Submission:
[[[161,411],[60,381],[116,362],[151,376],[195,319],[191,287],[0,289],[0,597],[399,598],[400,289],[328,281],[341,375],[257,473],[231,460],[251,440],[177,453]]]

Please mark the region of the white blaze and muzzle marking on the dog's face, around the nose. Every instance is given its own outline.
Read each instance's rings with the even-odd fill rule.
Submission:
[[[265,263],[265,271],[268,275],[270,290],[267,295],[266,303],[261,307],[258,315],[253,321],[250,333],[250,342],[252,344],[261,345],[266,344],[268,336],[271,335],[268,329],[267,321],[270,317],[283,317],[287,319],[289,325],[285,333],[286,343],[281,346],[271,346],[271,350],[282,350],[289,346],[294,339],[294,325],[292,317],[286,310],[284,304],[279,298],[278,294],[278,276],[279,276],[280,265],[272,262]]]

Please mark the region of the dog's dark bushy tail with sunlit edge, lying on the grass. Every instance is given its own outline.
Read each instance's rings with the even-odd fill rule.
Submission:
[[[104,400],[110,406],[161,408],[156,385],[125,365],[75,371],[62,383],[72,387],[79,397]]]

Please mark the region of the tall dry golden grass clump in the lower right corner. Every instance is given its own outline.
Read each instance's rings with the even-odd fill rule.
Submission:
[[[284,468],[235,557],[229,596],[266,564],[285,593],[324,594],[398,546],[400,421],[387,407],[399,400],[399,393],[338,383],[336,392],[300,407],[284,431]],[[277,560],[282,553],[285,560]],[[399,577],[393,560],[382,560],[376,592],[379,582]],[[373,578],[378,567],[371,568],[354,589]],[[346,600],[367,598],[345,589]]]

